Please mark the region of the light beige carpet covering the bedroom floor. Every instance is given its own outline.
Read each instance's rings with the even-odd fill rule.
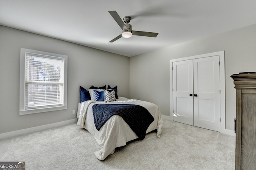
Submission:
[[[235,137],[164,120],[156,132],[133,141],[104,161],[100,146],[76,124],[0,140],[0,161],[25,161],[26,170],[168,169],[234,170]]]

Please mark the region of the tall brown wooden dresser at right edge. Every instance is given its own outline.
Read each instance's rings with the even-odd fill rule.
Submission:
[[[236,88],[236,170],[256,170],[256,73],[231,77]]]

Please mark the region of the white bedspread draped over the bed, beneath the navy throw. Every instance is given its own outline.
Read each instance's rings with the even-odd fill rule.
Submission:
[[[113,154],[115,148],[126,145],[126,142],[138,138],[129,125],[118,115],[110,117],[110,119],[98,131],[94,125],[92,114],[92,106],[95,104],[133,104],[145,107],[154,117],[154,121],[148,127],[146,133],[157,129],[156,136],[160,138],[162,133],[162,116],[158,106],[135,99],[127,99],[119,97],[117,101],[105,103],[104,101],[84,101],[78,104],[77,125],[85,128],[92,134],[96,142],[102,149],[95,151],[94,154],[99,160],[104,160],[108,155]]]

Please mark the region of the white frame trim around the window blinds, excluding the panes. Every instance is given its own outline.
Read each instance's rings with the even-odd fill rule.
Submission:
[[[25,83],[26,83],[26,53],[51,57],[61,57],[64,59],[64,102],[63,105],[53,107],[40,107],[36,109],[25,109]],[[42,113],[49,111],[57,111],[67,109],[67,78],[68,78],[68,56],[56,53],[48,53],[44,51],[37,51],[33,49],[20,48],[20,115],[27,115],[33,113]]]

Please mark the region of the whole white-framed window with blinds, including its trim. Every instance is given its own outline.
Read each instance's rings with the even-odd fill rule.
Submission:
[[[68,56],[20,49],[20,115],[67,109]]]

